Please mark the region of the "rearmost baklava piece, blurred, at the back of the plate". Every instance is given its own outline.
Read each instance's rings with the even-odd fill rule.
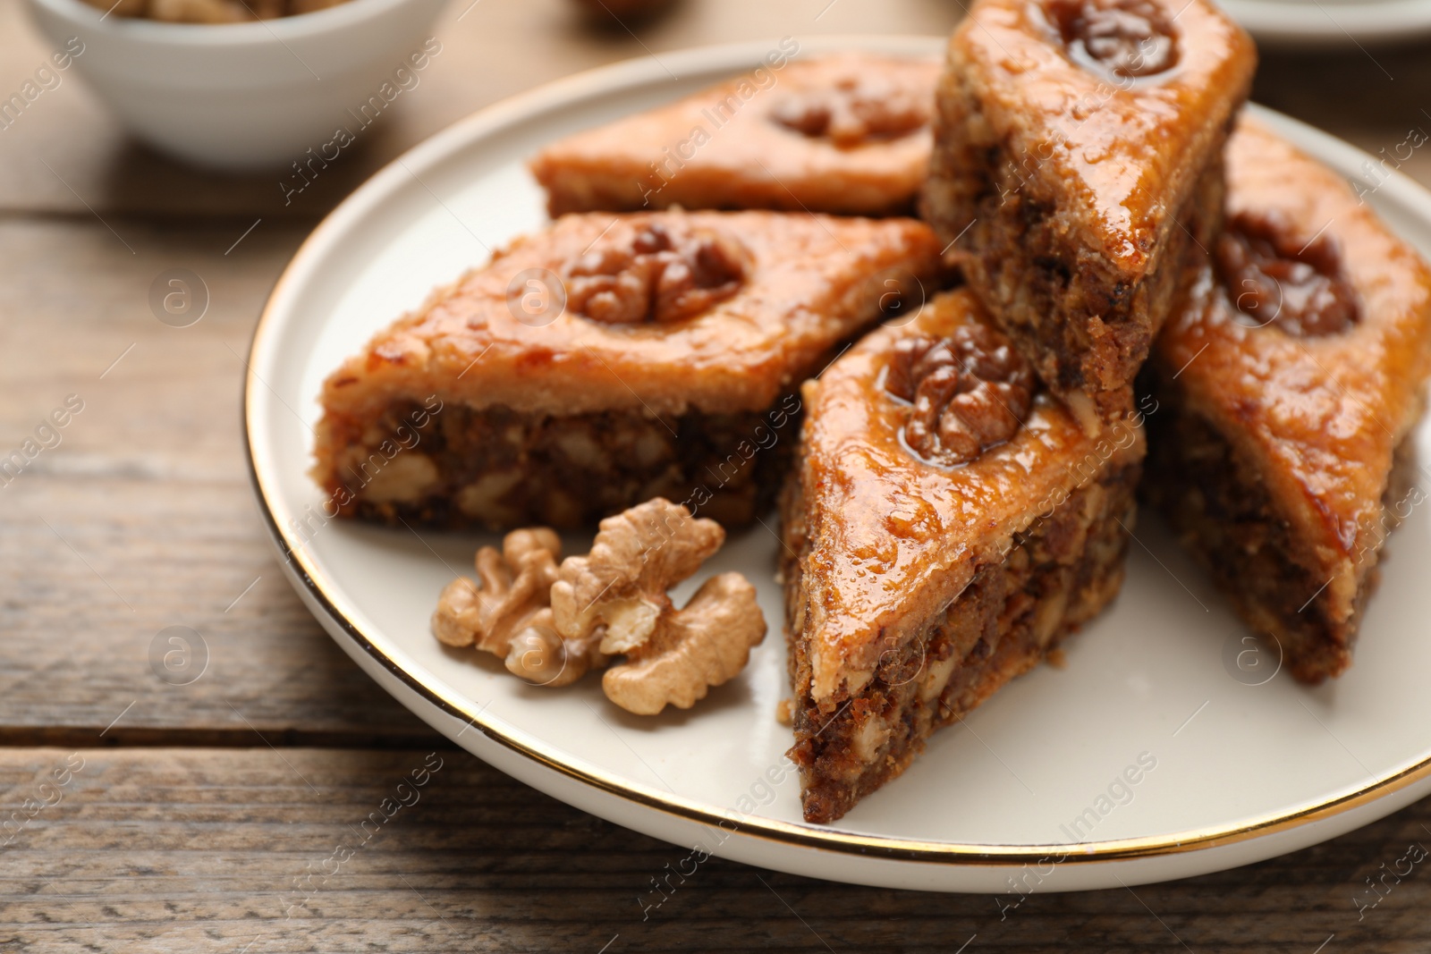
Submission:
[[[859,53],[768,59],[778,64],[544,149],[531,170],[551,215],[913,212],[939,64]]]

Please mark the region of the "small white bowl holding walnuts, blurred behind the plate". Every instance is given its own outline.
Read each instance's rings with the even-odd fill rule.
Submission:
[[[80,0],[29,4],[57,50],[79,49],[79,37],[73,69],[135,136],[197,164],[246,170],[331,160],[401,109],[441,56],[431,26],[445,1],[351,0],[219,26],[106,16]]]

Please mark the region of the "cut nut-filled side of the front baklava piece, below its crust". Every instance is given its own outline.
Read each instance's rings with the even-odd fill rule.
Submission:
[[[804,492],[787,493],[786,605],[793,634],[794,737],[806,821],[831,822],[903,772],[924,739],[957,722],[1118,592],[1133,519],[1139,465],[1109,468],[1047,518],[1013,538],[1002,562],[983,562],[959,596],[907,641],[880,638],[874,678],[853,695],[817,702],[806,608],[814,542],[798,513]],[[814,571],[819,572],[819,571]]]

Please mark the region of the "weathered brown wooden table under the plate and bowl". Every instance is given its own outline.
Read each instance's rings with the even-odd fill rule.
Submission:
[[[0,817],[23,821],[0,824],[0,951],[1431,945],[1420,868],[1361,917],[1354,903],[1384,862],[1431,844],[1431,801],[1266,864],[1032,897],[1006,918],[987,895],[711,861],[643,920],[638,895],[681,850],[487,768],[363,677],[270,558],[239,441],[249,335],[316,220],[402,149],[544,80],[746,37],[944,33],[960,4],[685,0],[637,34],[591,30],[562,0],[464,7],[438,24],[422,86],[286,207],[276,174],[216,177],[135,146],[74,74],[0,132],[0,455],[83,402],[0,488]],[[0,90],[47,51],[0,0]],[[1431,129],[1428,93],[1424,47],[1266,56],[1256,87],[1371,152]],[[1428,156],[1405,164],[1425,183]],[[212,292],[192,328],[150,312],[169,267]],[[150,664],[167,626],[207,646],[189,685]],[[421,802],[333,871],[333,850],[424,764],[441,768]]]

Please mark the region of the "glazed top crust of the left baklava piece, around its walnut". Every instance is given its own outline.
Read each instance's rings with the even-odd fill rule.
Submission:
[[[594,246],[630,243],[653,222],[733,237],[747,256],[740,289],[678,322],[611,325],[572,309],[524,312],[519,299],[529,276],[560,276]],[[933,233],[912,219],[771,212],[564,216],[379,332],[328,378],[322,403],[329,415],[348,418],[434,393],[472,408],[555,415],[760,410],[876,320],[894,292],[917,296],[937,259]],[[545,286],[531,287],[541,295]]]

